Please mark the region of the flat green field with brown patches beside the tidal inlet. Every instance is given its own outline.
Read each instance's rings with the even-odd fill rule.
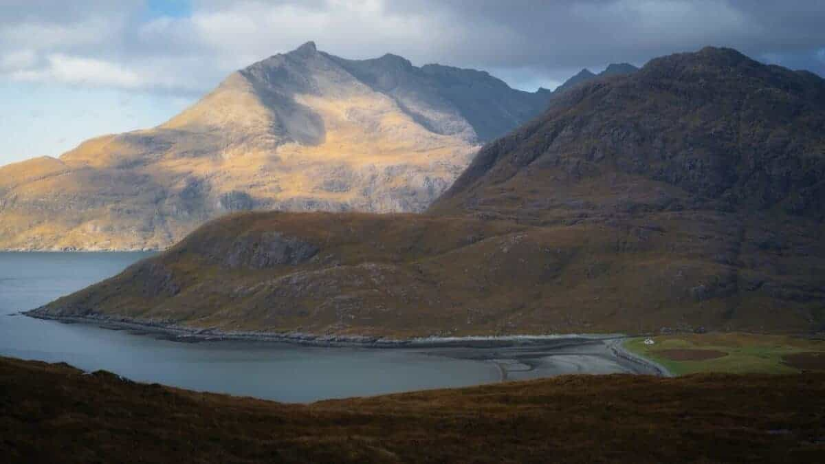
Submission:
[[[822,353],[813,355],[820,364],[825,361],[825,340],[803,339],[785,335],[756,334],[683,334],[650,337],[653,345],[644,344],[646,337],[629,339],[625,348],[667,367],[675,375],[695,372],[771,373],[802,372],[791,366],[784,356],[794,353]],[[698,361],[676,361],[667,353],[670,350],[714,350],[724,356]],[[695,352],[692,352],[695,353]],[[823,371],[817,365],[804,370]]]

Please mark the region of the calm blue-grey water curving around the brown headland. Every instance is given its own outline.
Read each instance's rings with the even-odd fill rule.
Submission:
[[[110,277],[149,253],[0,253],[0,355],[106,369],[135,381],[281,401],[499,379],[498,367],[426,351],[281,343],[176,343],[13,315]]]

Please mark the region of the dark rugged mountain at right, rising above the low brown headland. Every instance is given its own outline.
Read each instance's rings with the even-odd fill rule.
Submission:
[[[674,54],[555,98],[484,147],[432,211],[546,223],[703,208],[819,222],[823,127],[822,78],[735,50]]]

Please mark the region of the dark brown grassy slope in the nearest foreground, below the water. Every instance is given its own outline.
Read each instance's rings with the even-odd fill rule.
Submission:
[[[818,462],[825,376],[562,376],[284,405],[0,358],[5,462]]]

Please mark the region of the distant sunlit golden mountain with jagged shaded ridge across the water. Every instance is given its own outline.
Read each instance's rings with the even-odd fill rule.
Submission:
[[[0,168],[0,249],[163,249],[230,211],[422,211],[478,144],[544,110],[487,73],[311,42],[151,130]],[[478,115],[478,116],[475,116]]]

